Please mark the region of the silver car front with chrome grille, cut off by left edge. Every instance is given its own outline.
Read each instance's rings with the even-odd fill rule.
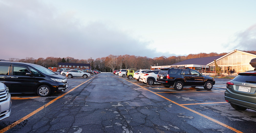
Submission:
[[[0,120],[5,119],[11,114],[11,95],[9,93],[8,87],[5,84],[0,82]]]

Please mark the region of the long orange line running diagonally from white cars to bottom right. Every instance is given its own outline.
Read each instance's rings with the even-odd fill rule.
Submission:
[[[121,79],[123,79],[123,78],[121,78]],[[124,80],[126,80],[126,79],[124,79]],[[128,80],[126,80],[126,81],[128,81]],[[128,81],[128,82],[131,82],[131,81]],[[131,83],[133,83],[133,82],[131,82]],[[135,84],[135,85],[137,85],[137,84]],[[155,93],[155,92],[153,92],[153,91],[150,91],[150,90],[146,89],[145,87],[142,87],[142,86],[140,86],[140,85],[137,85],[137,86],[139,86],[139,87],[141,87],[141,88],[143,88],[143,89],[145,89],[145,90],[147,90],[147,91],[149,91],[149,92],[152,92],[152,93],[154,93],[154,94],[156,94],[156,95],[158,95],[158,96],[160,96],[160,97],[162,97],[162,98],[164,98],[164,99],[166,99],[166,100],[168,100],[168,101],[170,101],[170,102],[172,102],[172,103],[174,103],[174,104],[176,104],[176,105],[178,105],[178,106],[180,106],[180,107],[183,107],[183,108],[185,108],[185,109],[187,109],[187,110],[189,110],[189,111],[191,111],[191,112],[194,112],[194,113],[196,113],[196,114],[198,114],[198,115],[200,115],[200,116],[202,116],[202,117],[205,117],[205,118],[207,118],[207,119],[209,119],[209,120],[211,120],[211,121],[213,121],[213,122],[215,122],[215,123],[217,123],[217,124],[219,124],[219,125],[221,125],[221,126],[223,126],[223,127],[226,127],[226,128],[228,128],[228,129],[230,129],[230,130],[233,130],[233,131],[235,131],[235,132],[237,132],[237,133],[243,133],[243,132],[241,132],[241,131],[239,131],[239,130],[237,130],[237,129],[235,129],[235,128],[232,128],[232,127],[230,127],[230,126],[228,126],[228,125],[226,125],[226,124],[224,124],[224,123],[221,123],[220,121],[217,121],[217,120],[215,120],[215,119],[213,119],[213,118],[211,118],[211,117],[208,117],[208,116],[206,116],[206,115],[203,115],[203,114],[201,114],[201,113],[199,113],[199,112],[197,112],[197,111],[195,111],[195,110],[193,110],[193,109],[190,109],[190,108],[185,107],[185,106],[183,106],[183,105],[181,105],[181,104],[178,104],[178,103],[176,103],[176,102],[174,102],[174,101],[172,101],[172,100],[170,100],[170,99],[168,99],[168,98],[166,98],[166,97],[164,97],[164,96],[162,96],[162,95],[159,95],[159,94],[157,94],[157,93]]]

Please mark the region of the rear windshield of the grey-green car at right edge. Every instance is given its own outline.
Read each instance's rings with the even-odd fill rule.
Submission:
[[[239,73],[233,81],[238,81],[238,82],[256,82],[256,73]]]

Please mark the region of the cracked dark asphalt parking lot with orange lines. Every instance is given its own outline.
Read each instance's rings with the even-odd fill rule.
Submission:
[[[50,97],[12,95],[0,132],[255,132],[256,112],[224,100],[226,82],[212,90],[149,86],[112,73],[68,79]]]

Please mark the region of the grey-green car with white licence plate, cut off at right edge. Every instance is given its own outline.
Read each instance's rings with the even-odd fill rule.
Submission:
[[[256,71],[239,73],[227,82],[225,100],[236,110],[256,110]]]

